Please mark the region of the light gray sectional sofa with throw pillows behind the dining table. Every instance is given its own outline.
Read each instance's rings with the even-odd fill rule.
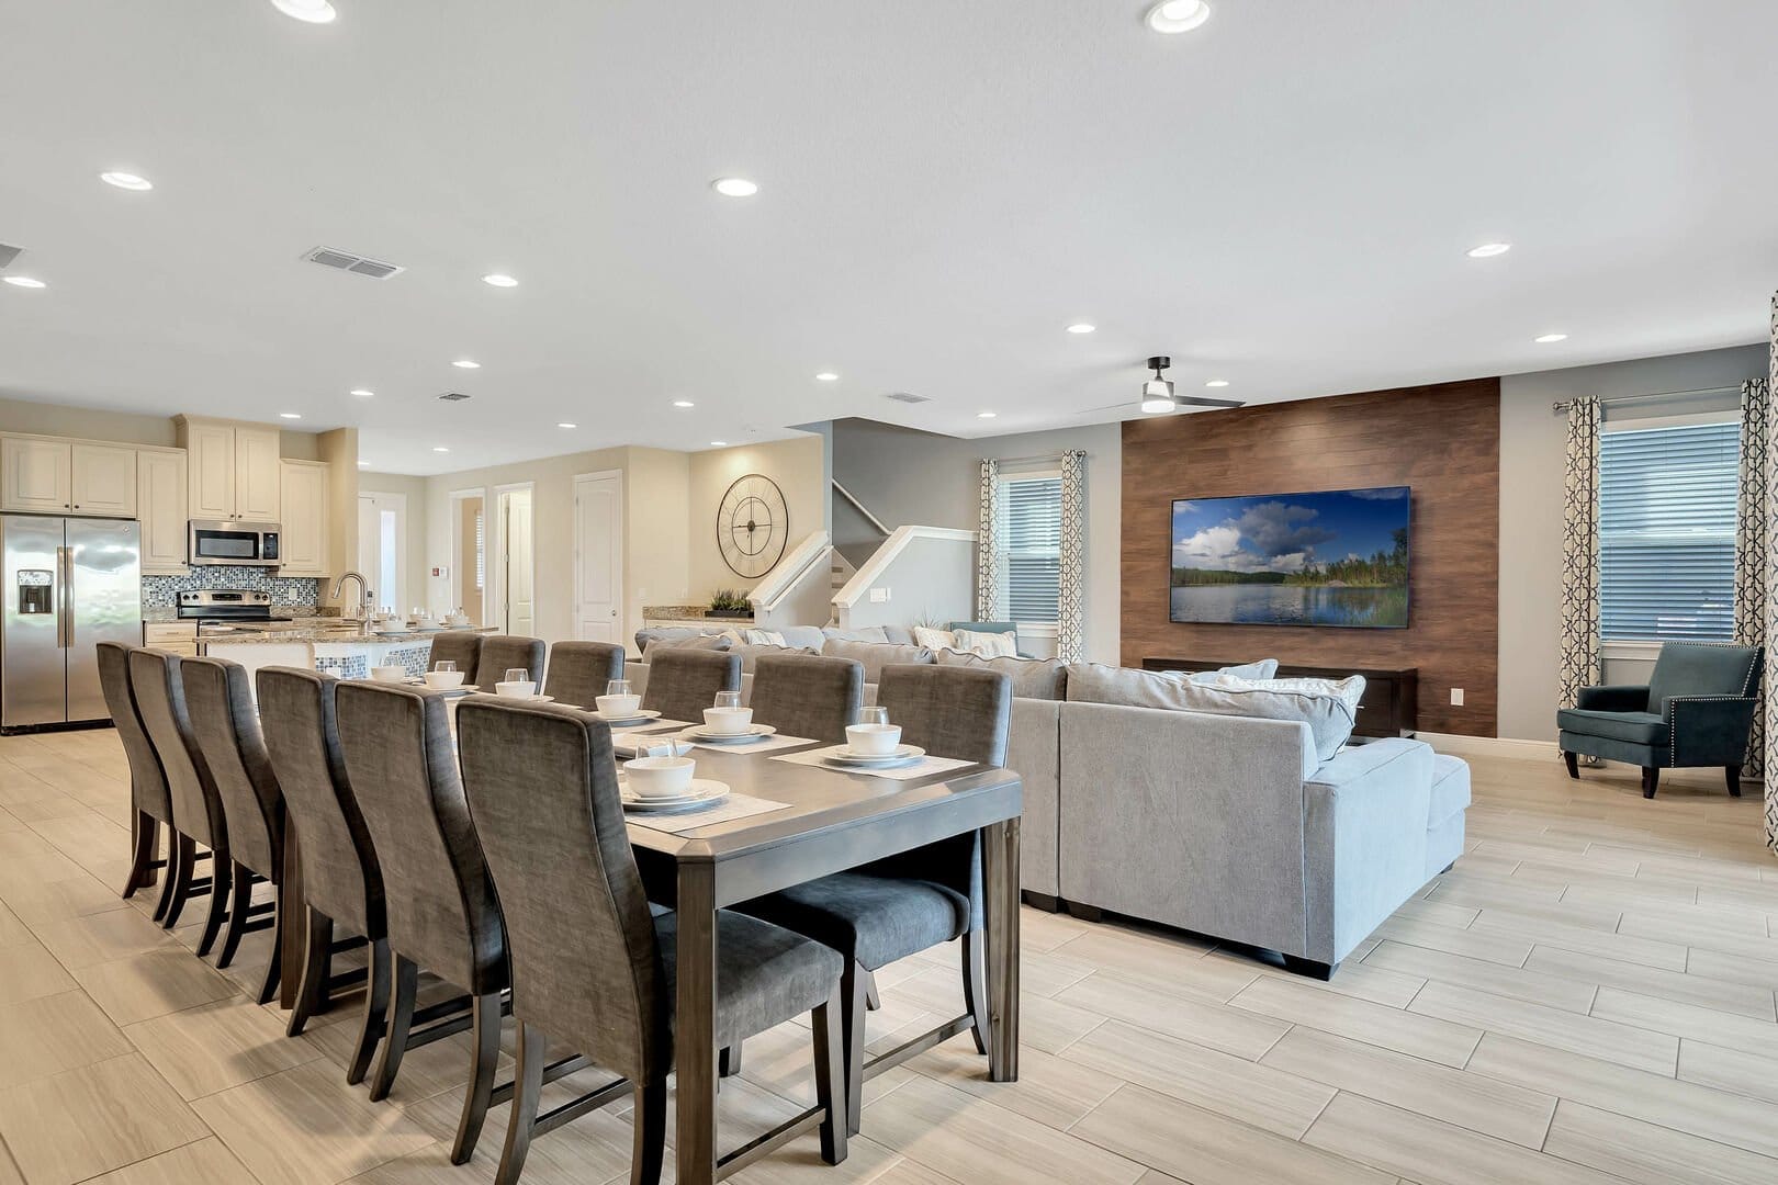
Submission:
[[[1469,766],[1424,741],[1323,760],[1298,720],[1152,707],[1141,691],[1106,702],[1165,677],[990,664],[1015,679],[1008,766],[1024,778],[1022,887],[1040,908],[1175,926],[1326,977],[1463,855]],[[647,664],[626,672],[640,691]]]

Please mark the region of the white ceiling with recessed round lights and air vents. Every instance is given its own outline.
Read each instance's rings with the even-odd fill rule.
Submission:
[[[443,473],[1115,419],[1156,352],[1261,402],[1737,345],[1778,284],[1769,0],[334,4],[0,0],[50,284],[0,284],[0,394]]]

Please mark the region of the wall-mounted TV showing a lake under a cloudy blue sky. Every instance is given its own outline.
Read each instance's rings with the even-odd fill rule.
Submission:
[[[1405,629],[1410,505],[1406,485],[1175,501],[1170,616]]]

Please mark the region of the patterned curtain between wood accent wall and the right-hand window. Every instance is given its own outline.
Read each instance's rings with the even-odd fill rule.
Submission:
[[[1598,661],[1598,400],[1568,407],[1561,517],[1558,704],[1574,707],[1600,680]]]

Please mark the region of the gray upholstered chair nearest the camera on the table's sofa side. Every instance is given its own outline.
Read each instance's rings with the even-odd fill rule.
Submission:
[[[893,663],[877,684],[877,704],[901,725],[901,741],[933,757],[1006,764],[1012,675],[973,666]],[[907,1055],[958,1032],[974,1032],[987,1052],[987,947],[981,908],[981,837],[955,835],[850,872],[797,885],[740,906],[807,934],[845,956],[839,982],[846,1055],[848,1126],[862,1114],[864,1014],[871,972],[926,947],[962,938],[964,1014],[903,1043],[880,1059]]]

